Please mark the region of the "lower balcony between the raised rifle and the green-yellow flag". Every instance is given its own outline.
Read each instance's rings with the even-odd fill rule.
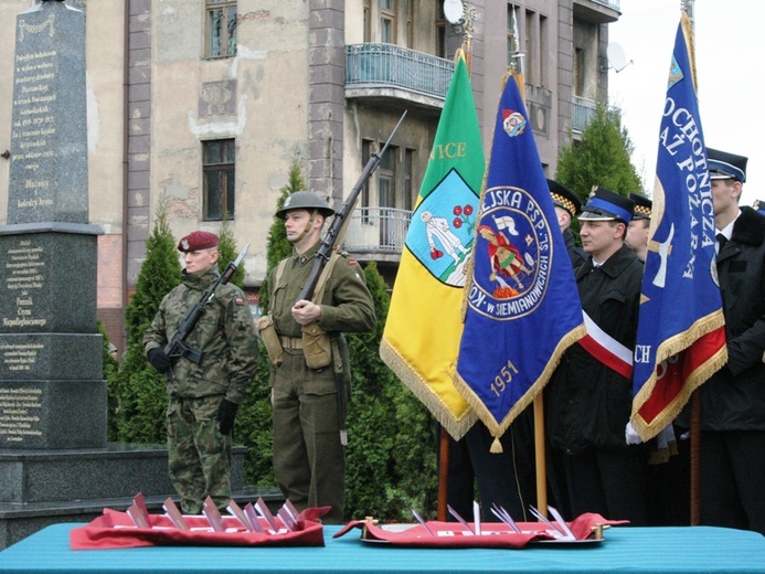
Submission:
[[[374,259],[399,261],[410,228],[412,212],[393,208],[357,208],[343,241],[354,255],[374,255]]]

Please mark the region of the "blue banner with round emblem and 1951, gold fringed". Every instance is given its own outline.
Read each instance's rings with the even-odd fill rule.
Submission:
[[[499,437],[584,334],[571,261],[511,76],[497,110],[476,228],[456,384]]]

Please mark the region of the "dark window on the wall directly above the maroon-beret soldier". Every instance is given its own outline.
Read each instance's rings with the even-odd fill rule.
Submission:
[[[233,139],[202,142],[203,219],[234,217],[236,148]]]

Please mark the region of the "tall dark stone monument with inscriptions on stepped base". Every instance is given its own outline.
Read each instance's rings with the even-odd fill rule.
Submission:
[[[43,1],[17,17],[15,31],[8,225],[0,226],[0,549],[53,522],[127,508],[138,492],[156,508],[174,495],[163,445],[106,438],[85,14]],[[245,451],[234,450],[237,500]]]

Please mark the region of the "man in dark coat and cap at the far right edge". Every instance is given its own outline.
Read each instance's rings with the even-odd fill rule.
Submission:
[[[739,206],[746,158],[706,149],[727,364],[701,386],[701,522],[765,534],[765,219]]]

